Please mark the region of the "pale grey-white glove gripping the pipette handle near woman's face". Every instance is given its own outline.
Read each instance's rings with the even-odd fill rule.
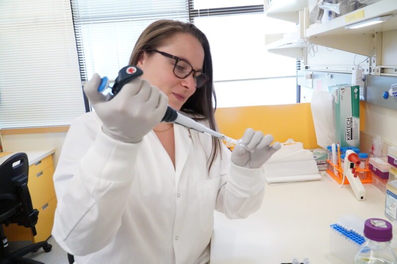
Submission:
[[[164,117],[168,97],[146,80],[133,79],[110,101],[98,92],[101,78],[94,74],[84,93],[102,120],[102,130],[123,142],[137,143]]]

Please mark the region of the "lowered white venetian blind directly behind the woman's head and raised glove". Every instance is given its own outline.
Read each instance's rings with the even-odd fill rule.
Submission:
[[[159,19],[189,21],[188,0],[71,0],[82,81],[115,79],[140,33]]]

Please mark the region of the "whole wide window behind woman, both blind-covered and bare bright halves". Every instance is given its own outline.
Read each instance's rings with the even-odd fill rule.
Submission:
[[[265,33],[293,31],[296,25],[266,18],[263,0],[247,0],[245,6],[237,0],[71,3],[83,81],[95,72],[114,79],[143,29],[168,18],[191,21],[208,37],[218,107],[296,103],[296,59],[264,47]]]

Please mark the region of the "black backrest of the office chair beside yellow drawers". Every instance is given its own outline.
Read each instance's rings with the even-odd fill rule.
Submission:
[[[16,153],[0,164],[0,203],[12,205],[20,202],[20,211],[9,221],[31,227],[33,235],[36,235],[34,226],[37,223],[39,211],[33,209],[32,206],[28,189],[28,174],[29,162],[26,153]]]

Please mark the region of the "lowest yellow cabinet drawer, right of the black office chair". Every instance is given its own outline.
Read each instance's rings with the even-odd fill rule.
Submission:
[[[50,202],[39,209],[39,219],[36,224],[37,235],[33,238],[34,243],[47,240],[51,236],[56,208],[57,198],[54,197]]]

